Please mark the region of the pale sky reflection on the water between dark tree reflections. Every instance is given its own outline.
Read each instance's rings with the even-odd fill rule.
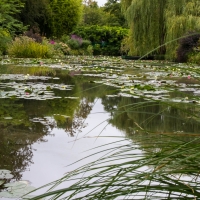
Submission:
[[[94,127],[110,117],[109,113],[100,112],[104,112],[104,109],[101,104],[101,100],[98,100],[91,110],[91,113],[98,114],[90,114],[88,116],[85,121],[88,126],[83,129],[83,132],[78,134],[78,138],[83,137]],[[94,158],[98,158],[100,155],[92,156],[87,160],[83,160],[75,165],[66,167],[67,165],[72,164],[73,162],[94,152],[84,151],[121,139],[100,137],[96,140],[94,136],[98,136],[99,134],[101,134],[101,136],[123,136],[123,133],[112,125],[106,125],[107,122],[102,123],[100,126],[88,133],[85,138],[78,139],[75,142],[73,141],[76,137],[69,137],[65,130],[54,128],[51,132],[51,134],[55,134],[54,137],[51,135],[45,136],[44,139],[47,140],[47,142],[35,143],[32,145],[33,149],[36,149],[33,151],[32,160],[34,164],[30,165],[29,171],[24,172],[22,180],[29,180],[32,183],[32,186],[39,187],[61,178],[66,172],[71,171],[76,167],[80,167],[87,162],[94,161]],[[105,126],[106,128],[104,129]],[[107,148],[108,147],[105,147],[105,149]]]

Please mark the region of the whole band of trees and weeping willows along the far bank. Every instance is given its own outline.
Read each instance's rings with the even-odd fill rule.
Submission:
[[[103,7],[94,0],[1,0],[0,13],[0,52],[6,51],[10,37],[31,30],[32,34],[26,35],[37,41],[40,39],[34,34],[53,40],[64,37],[65,43],[66,36],[78,34],[90,40],[95,54],[143,56],[149,53],[180,62],[200,60],[200,42],[195,39],[200,33],[200,1],[197,0],[107,0]],[[87,31],[92,28],[96,31],[95,38],[88,37]],[[121,28],[129,29],[128,36],[127,31],[117,36],[115,31],[120,33]],[[195,43],[187,51],[178,38],[189,35],[185,40],[189,41],[191,33]],[[81,47],[80,41],[70,38],[67,41],[70,48]],[[107,49],[105,43],[100,44],[100,49],[95,46],[102,41],[112,46]],[[180,56],[182,51],[187,59]]]

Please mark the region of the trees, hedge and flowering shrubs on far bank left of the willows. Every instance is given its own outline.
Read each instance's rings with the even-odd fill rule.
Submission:
[[[53,40],[51,44],[59,40],[59,43],[54,45],[54,49],[64,54],[94,52],[94,54],[120,55],[121,41],[127,35],[126,29],[122,31],[122,28],[127,25],[121,13],[119,0],[108,0],[104,7],[99,7],[93,0],[83,2],[82,0],[3,0],[0,2],[0,11],[2,13],[0,15],[0,53],[4,54],[8,52],[21,57],[24,52],[28,52],[30,46],[34,46],[34,48],[39,48],[40,52],[44,52],[45,49],[46,53],[42,56],[31,50],[25,57],[53,55],[49,47],[35,45],[33,41],[19,36],[23,35],[39,43],[42,43],[44,37]],[[94,26],[98,27],[94,34],[95,38],[90,39],[87,37],[86,30]],[[84,34],[79,34],[78,30],[83,27],[88,28],[85,29]],[[74,36],[74,33],[77,35]],[[6,44],[16,36],[19,38],[14,46],[7,49]],[[102,40],[106,42],[106,45],[95,45]],[[16,52],[22,43],[26,43],[27,47],[23,52]]]

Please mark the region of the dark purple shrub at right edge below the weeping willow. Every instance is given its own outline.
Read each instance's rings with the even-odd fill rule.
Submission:
[[[180,40],[179,47],[177,49],[177,61],[187,62],[189,54],[192,55],[194,48],[198,46],[198,41],[200,38],[199,33],[190,32]]]

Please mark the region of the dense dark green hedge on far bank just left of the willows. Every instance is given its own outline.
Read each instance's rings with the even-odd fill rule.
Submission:
[[[128,34],[128,30],[122,27],[80,26],[73,34],[90,40],[94,55],[120,55],[121,41]]]

